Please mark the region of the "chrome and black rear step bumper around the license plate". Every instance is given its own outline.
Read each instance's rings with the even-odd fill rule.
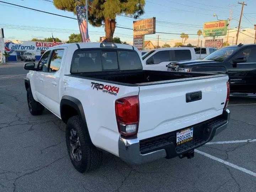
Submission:
[[[214,135],[228,127],[230,111],[205,122],[190,126],[194,128],[194,138],[190,142],[176,145],[176,130],[153,138],[139,141],[137,138],[119,138],[119,157],[132,164],[142,164],[162,158],[193,157],[194,149],[208,143]]]

